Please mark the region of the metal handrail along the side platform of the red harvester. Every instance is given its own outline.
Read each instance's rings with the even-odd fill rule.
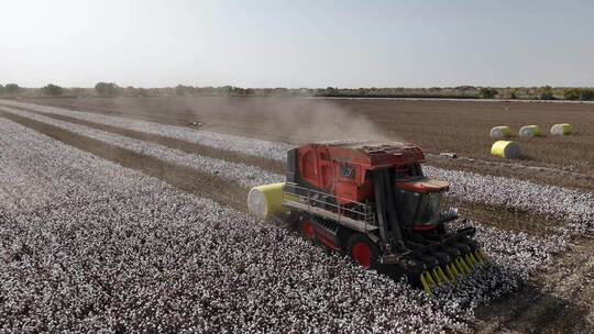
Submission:
[[[311,188],[300,187],[300,186],[297,186],[297,183],[293,183],[293,182],[286,182],[285,183],[285,189],[283,191],[283,200],[285,200],[285,193],[289,193],[289,194],[296,196],[298,198],[304,197],[302,194],[297,193],[297,191],[290,191],[288,189],[295,189],[295,190],[299,189],[301,191],[306,191],[306,193],[307,193],[307,196],[306,196],[306,198],[307,198],[307,210],[308,211],[311,210],[311,207],[312,207],[311,203],[312,202],[314,203],[320,203],[320,204],[324,204],[326,207],[330,207],[330,208],[333,208],[333,209],[337,210],[336,213],[338,215],[338,222],[339,223],[341,222],[341,218],[344,215],[343,212],[350,212],[351,214],[354,214],[358,218],[355,220],[365,223],[365,230],[367,227],[367,224],[371,224],[373,226],[376,225],[375,224],[375,214],[373,213],[373,210],[371,210],[370,205],[366,204],[366,203],[339,198],[339,197],[337,197],[334,194],[323,192],[323,191],[318,191],[318,190],[315,190],[315,189],[311,189]],[[316,197],[314,197],[315,194],[323,196],[323,197],[327,197],[327,198],[330,197],[330,198],[334,199],[334,203],[321,200],[319,198],[316,198]],[[342,202],[348,202],[350,204],[354,204],[354,207],[353,208],[346,208],[343,204],[337,204],[339,202],[338,200],[340,200]],[[362,208],[362,210],[356,209],[356,208]],[[363,219],[359,219],[359,218],[363,218]]]

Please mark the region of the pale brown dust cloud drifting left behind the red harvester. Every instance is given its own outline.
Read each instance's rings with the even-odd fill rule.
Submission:
[[[302,144],[320,141],[396,141],[363,113],[340,100],[285,97],[116,98],[103,107],[129,116],[175,125],[204,123],[204,130]]]

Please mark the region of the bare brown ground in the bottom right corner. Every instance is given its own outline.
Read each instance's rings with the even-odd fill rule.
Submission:
[[[552,270],[539,272],[514,296],[480,308],[481,333],[592,333],[594,238],[579,237]],[[569,274],[568,274],[569,272]]]

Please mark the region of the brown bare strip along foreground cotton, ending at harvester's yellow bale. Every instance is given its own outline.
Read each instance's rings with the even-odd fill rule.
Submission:
[[[208,172],[200,172],[194,168],[183,167],[130,149],[109,145],[51,124],[4,112],[2,110],[0,110],[0,116],[31,127],[59,142],[91,153],[98,157],[120,164],[123,167],[136,169],[146,175],[157,177],[184,191],[212,199],[240,211],[246,211],[245,198],[248,197],[248,191],[241,185],[224,181]]]

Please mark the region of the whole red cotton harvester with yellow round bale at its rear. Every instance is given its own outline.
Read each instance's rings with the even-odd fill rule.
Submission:
[[[254,187],[248,205],[364,268],[406,276],[431,293],[486,261],[473,227],[452,231],[446,181],[424,176],[414,144],[324,142],[287,154],[286,181]]]

